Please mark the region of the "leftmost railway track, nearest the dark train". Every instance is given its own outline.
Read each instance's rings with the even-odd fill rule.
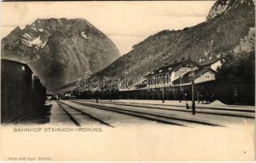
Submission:
[[[82,111],[82,109],[78,109],[78,108],[74,108],[68,104],[64,104],[63,102],[60,101],[56,101],[57,104],[59,104],[60,108],[63,109],[63,111],[68,115],[68,117],[70,118],[71,121],[73,121],[73,123],[76,126],[82,126],[83,123],[86,123],[86,119],[88,119],[88,117],[90,119],[93,119],[94,121],[98,121],[100,124],[104,125],[104,126],[109,126],[109,127],[114,127],[111,126],[110,124],[108,124],[108,122],[103,121],[101,119],[99,119],[98,117],[94,117],[92,115],[90,115],[87,112]],[[77,117],[80,116],[80,117]]]

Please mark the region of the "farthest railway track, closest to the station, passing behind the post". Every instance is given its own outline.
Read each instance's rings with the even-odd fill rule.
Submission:
[[[73,100],[72,100],[73,101]],[[93,101],[90,101],[90,103],[95,103],[96,102],[93,102]],[[118,104],[115,102],[115,103],[110,103],[110,102],[100,102],[99,104],[114,104],[114,105],[120,105],[120,106],[130,106],[130,107],[141,107],[141,108],[154,108],[154,109],[159,109],[159,110],[170,110],[170,111],[177,111],[177,112],[192,112],[191,110],[182,110],[182,109],[175,109],[175,108],[166,108],[165,105],[161,105],[161,107],[165,107],[165,108],[158,108],[158,107],[154,107],[154,106],[145,106],[143,104],[121,104],[121,102],[118,102]],[[150,104],[150,105],[160,105],[160,104]],[[181,106],[179,106],[181,107]],[[185,106],[183,106],[182,108],[184,108]],[[198,111],[198,109],[200,109],[200,111]],[[204,109],[206,111],[206,109],[209,109],[211,111],[214,111],[214,112],[204,112]],[[235,109],[227,109],[227,110],[224,110],[222,109],[222,111],[227,111],[226,113],[224,112],[216,112],[216,110],[218,111],[219,109],[215,109],[215,108],[196,108],[196,113],[201,113],[201,114],[210,114],[210,115],[217,115],[217,116],[225,116],[225,117],[244,117],[244,118],[251,118],[251,119],[254,119],[255,117],[254,116],[248,116],[248,115],[238,115],[238,114],[234,114],[234,113],[229,113],[229,112],[241,112],[240,110],[235,110]],[[246,110],[243,110],[244,112],[246,112]],[[247,112],[246,112],[247,113]],[[249,110],[248,113],[254,113],[254,112],[251,112]]]

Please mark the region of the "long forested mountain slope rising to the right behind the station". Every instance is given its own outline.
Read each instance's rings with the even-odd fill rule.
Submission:
[[[172,64],[182,57],[214,58],[216,55],[245,55],[255,51],[255,9],[253,0],[218,0],[207,20],[183,30],[163,30],[133,46],[128,54],[95,76],[141,77],[157,66]]]

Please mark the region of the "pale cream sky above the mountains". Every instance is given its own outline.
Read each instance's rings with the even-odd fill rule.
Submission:
[[[205,21],[214,1],[2,2],[2,37],[38,18],[84,18],[108,35],[121,55],[164,29],[183,29]]]

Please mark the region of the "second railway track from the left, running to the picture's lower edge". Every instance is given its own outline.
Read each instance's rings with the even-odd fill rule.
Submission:
[[[166,115],[161,115],[161,114],[156,114],[151,112],[139,112],[139,111],[124,109],[124,108],[113,108],[113,107],[101,106],[98,104],[85,104],[77,101],[70,101],[70,102],[74,104],[80,104],[83,106],[91,107],[91,108],[98,108],[98,109],[109,111],[109,112],[126,114],[133,117],[139,117],[139,118],[147,119],[150,121],[157,121],[157,122],[176,125],[176,126],[189,126],[190,124],[197,124],[197,125],[204,125],[204,126],[219,126],[217,124],[213,124],[205,121],[195,121],[195,120],[188,120],[188,119],[177,118],[177,117],[169,117]]]

